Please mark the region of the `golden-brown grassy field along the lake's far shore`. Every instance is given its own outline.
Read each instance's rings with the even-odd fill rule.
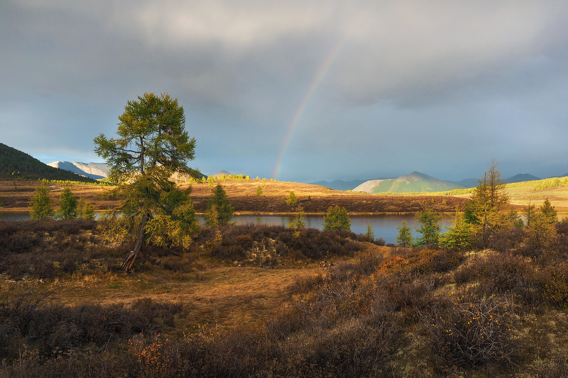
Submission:
[[[270,214],[270,213],[294,213],[293,207],[287,206],[281,201],[290,191],[294,191],[300,198],[300,203],[306,213],[322,214],[329,206],[344,206],[349,213],[415,213],[425,203],[433,210],[441,213],[451,213],[465,203],[470,194],[458,194],[454,196],[379,196],[377,194],[356,194],[332,190],[321,185],[302,184],[299,182],[263,181],[263,180],[223,180],[218,181],[223,185],[236,214]],[[0,202],[4,211],[26,211],[30,203],[30,197],[37,181],[0,181]],[[182,189],[189,184],[179,184]],[[262,196],[256,197],[256,188],[262,188]],[[52,185],[54,206],[59,205],[59,192],[61,184]],[[191,184],[195,211],[203,213],[206,207],[211,188],[208,184]],[[109,210],[118,205],[119,201],[106,201],[99,199],[98,194],[103,193],[108,186],[94,185],[71,185],[76,196],[81,196],[94,204],[96,210]],[[511,196],[514,206],[522,207],[529,199],[540,206],[544,198],[548,198],[558,213],[568,213],[568,186],[559,185],[555,188],[534,190],[532,184],[506,188]],[[308,201],[308,196],[311,200]]]

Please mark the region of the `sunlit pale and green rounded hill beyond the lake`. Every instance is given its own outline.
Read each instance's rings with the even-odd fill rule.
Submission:
[[[366,181],[353,189],[367,193],[412,193],[412,192],[442,192],[444,190],[463,189],[463,186],[452,184],[436,177],[412,172],[410,175],[400,176],[397,179],[379,179]]]

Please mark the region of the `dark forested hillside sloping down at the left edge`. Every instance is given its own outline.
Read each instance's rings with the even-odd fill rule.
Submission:
[[[83,177],[65,169],[49,167],[39,160],[0,143],[0,179],[48,179],[95,182],[89,177]]]

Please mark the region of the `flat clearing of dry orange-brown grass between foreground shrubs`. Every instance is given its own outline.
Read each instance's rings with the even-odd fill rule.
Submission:
[[[369,249],[390,255],[391,248],[367,244]],[[349,262],[346,257],[337,261]],[[48,294],[57,304],[131,303],[139,298],[158,302],[181,300],[187,305],[187,316],[177,323],[178,330],[194,330],[200,324],[216,324],[220,328],[261,326],[275,308],[289,299],[289,287],[296,277],[318,271],[317,262],[296,261],[288,269],[218,266],[207,258],[195,261],[201,270],[173,273],[159,266],[133,274],[106,273],[75,275],[68,279],[40,282],[39,279],[12,281],[2,277],[0,291],[34,291]]]

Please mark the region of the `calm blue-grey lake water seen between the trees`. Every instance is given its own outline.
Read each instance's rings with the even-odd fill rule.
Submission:
[[[95,215],[100,215],[97,211]],[[203,224],[203,215],[197,215],[199,223]],[[26,220],[30,219],[30,214],[27,211],[0,211],[0,220]],[[288,226],[294,215],[235,215],[233,216],[233,222],[236,224],[274,224],[277,226]],[[403,220],[408,222],[411,226],[412,234],[414,236],[419,236],[420,234],[414,230],[414,226],[418,227],[419,224],[414,222],[414,215],[412,214],[377,214],[377,215],[349,215],[351,219],[351,231],[357,233],[365,233],[367,231],[367,223],[371,224],[375,237],[382,237],[387,243],[395,243],[396,235],[398,235],[398,230],[396,227],[400,227]],[[441,226],[451,226],[449,220],[453,219],[450,215],[444,215],[440,222]],[[306,219],[307,227],[323,228],[323,215],[308,215]],[[442,227],[442,232],[446,229]]]

